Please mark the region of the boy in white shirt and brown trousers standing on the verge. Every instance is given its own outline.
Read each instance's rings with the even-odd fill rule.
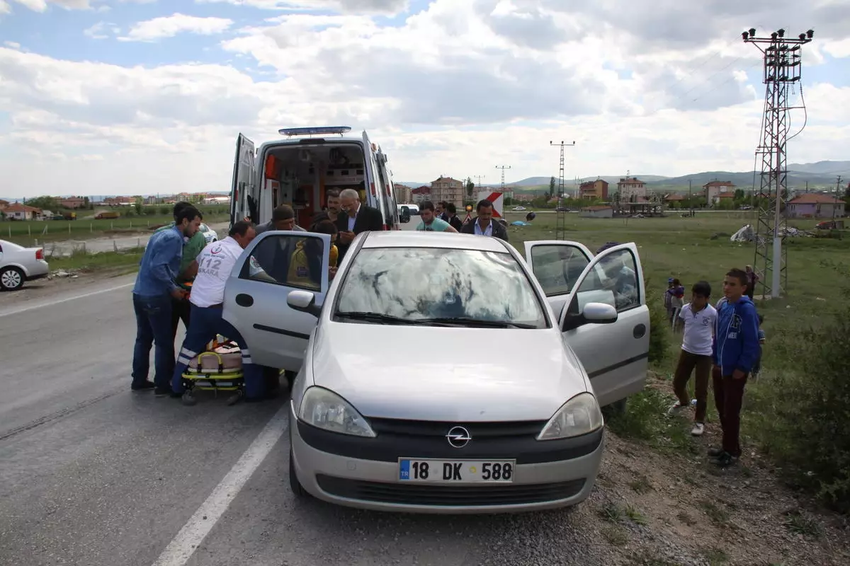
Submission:
[[[691,289],[691,302],[679,312],[684,331],[682,334],[682,353],[676,373],[673,376],[673,392],[678,401],[672,406],[672,412],[681,411],[690,405],[688,382],[696,369],[694,393],[696,396],[696,414],[691,434],[702,435],[706,430],[706,406],[708,404],[708,382],[711,377],[711,345],[714,339],[714,326],[717,310],[709,304],[711,285],[706,281],[694,283]]]

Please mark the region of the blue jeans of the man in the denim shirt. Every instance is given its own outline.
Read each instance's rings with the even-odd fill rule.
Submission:
[[[168,387],[174,371],[174,337],[171,333],[171,297],[167,294],[142,297],[133,294],[136,313],[136,345],[133,347],[133,385],[144,384],[150,370],[150,347],[154,352],[154,384]]]

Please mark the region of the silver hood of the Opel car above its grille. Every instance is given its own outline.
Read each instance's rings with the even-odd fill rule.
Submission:
[[[327,322],[312,359],[314,383],[365,417],[546,420],[589,389],[557,329]]]

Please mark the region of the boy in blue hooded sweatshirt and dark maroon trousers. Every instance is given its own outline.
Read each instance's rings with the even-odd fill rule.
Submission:
[[[744,386],[759,356],[758,315],[756,305],[746,296],[747,273],[731,269],[723,279],[726,300],[717,310],[712,357],[715,371],[714,401],[723,428],[723,446],[711,448],[713,463],[725,468],[738,462],[740,412]]]

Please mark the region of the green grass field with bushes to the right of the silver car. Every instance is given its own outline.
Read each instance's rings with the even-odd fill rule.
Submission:
[[[524,214],[511,213],[508,221],[524,218]],[[708,281],[713,302],[722,296],[723,276],[730,268],[754,263],[754,244],[736,244],[728,238],[743,224],[752,223],[746,216],[706,213],[695,218],[614,220],[568,214],[566,239],[591,249],[612,241],[638,244],[649,300],[652,308],[661,309],[667,277],[678,277],[686,289],[700,279]],[[511,227],[511,241],[522,250],[524,241],[553,239],[555,221],[555,215],[541,214],[533,226]],[[791,222],[806,229],[813,224]],[[724,235],[712,239],[714,233]],[[758,296],[761,288],[756,291],[768,339],[762,376],[746,386],[742,412],[746,465],[773,462],[791,485],[806,488],[830,507],[847,512],[850,308],[845,297],[850,293],[850,238],[786,238],[785,245],[788,287],[783,296],[762,300]],[[626,414],[609,424],[618,434],[643,440],[656,449],[686,456],[701,454],[700,444],[689,434],[689,423],[666,414],[674,401],[670,382],[681,335],[666,329],[663,333],[667,356],[653,364],[656,377],[643,393],[629,400]],[[717,427],[711,399],[708,420]],[[761,459],[750,457],[756,452]]]

